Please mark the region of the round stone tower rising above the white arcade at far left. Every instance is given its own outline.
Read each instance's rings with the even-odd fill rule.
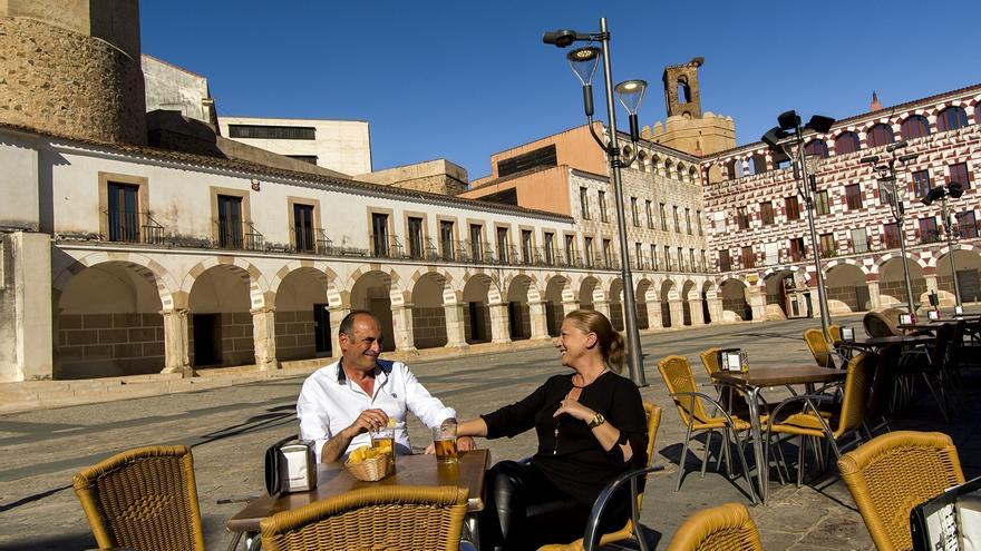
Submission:
[[[146,142],[138,0],[0,2],[0,122]]]

